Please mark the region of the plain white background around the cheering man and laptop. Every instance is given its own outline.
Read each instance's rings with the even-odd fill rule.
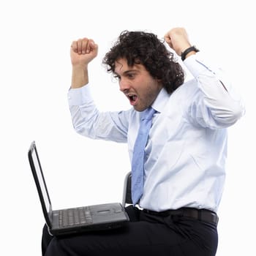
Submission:
[[[230,73],[246,115],[230,128],[217,256],[255,252],[255,7],[253,1],[29,1],[0,4],[1,255],[40,255],[44,224],[27,158],[32,140],[53,208],[121,201],[127,146],[89,140],[72,129],[67,107],[69,46],[99,44],[90,81],[100,110],[129,108],[101,61],[118,34],[162,38],[184,26],[192,44]],[[17,215],[16,215],[17,214]]]

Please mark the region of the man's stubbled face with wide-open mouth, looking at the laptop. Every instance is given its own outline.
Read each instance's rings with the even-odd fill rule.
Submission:
[[[120,91],[126,95],[135,110],[146,110],[157,98],[162,84],[152,78],[142,64],[129,67],[126,59],[118,59],[115,64]]]

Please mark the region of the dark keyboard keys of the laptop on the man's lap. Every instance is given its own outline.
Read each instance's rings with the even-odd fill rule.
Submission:
[[[59,227],[92,223],[89,207],[78,207],[59,210]]]

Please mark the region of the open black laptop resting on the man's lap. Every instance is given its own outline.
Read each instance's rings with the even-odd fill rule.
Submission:
[[[110,230],[123,227],[129,222],[129,217],[121,203],[53,210],[34,141],[29,148],[29,164],[50,235],[62,236],[86,231]]]

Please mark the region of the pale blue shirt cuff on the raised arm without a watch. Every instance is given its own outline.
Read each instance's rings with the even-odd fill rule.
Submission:
[[[69,101],[69,106],[74,105],[83,105],[88,102],[92,102],[93,99],[91,97],[91,89],[90,85],[87,84],[86,86],[76,88],[76,89],[69,89],[67,93],[67,99]]]

